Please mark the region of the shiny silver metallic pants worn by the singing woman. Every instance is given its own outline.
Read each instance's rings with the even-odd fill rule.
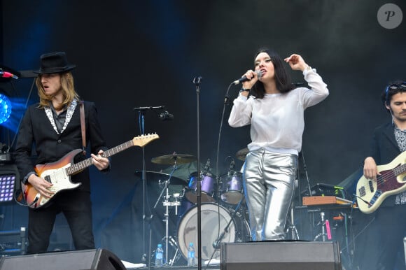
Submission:
[[[246,156],[243,184],[253,241],[285,238],[296,169],[296,155],[258,149]]]

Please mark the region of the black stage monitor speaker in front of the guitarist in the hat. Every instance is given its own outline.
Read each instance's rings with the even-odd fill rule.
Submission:
[[[109,250],[76,250],[0,258],[1,270],[125,270]]]

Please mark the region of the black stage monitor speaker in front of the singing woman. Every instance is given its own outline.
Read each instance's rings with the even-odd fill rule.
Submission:
[[[221,243],[221,270],[341,270],[337,242]]]

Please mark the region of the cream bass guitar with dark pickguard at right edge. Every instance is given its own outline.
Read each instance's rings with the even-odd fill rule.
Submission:
[[[381,173],[377,180],[362,176],[356,186],[358,208],[363,213],[372,213],[381,205],[386,197],[406,190],[406,152],[386,165],[379,165]]]

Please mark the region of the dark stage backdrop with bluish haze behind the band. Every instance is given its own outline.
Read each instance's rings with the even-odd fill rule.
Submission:
[[[404,1],[391,2],[406,8]],[[166,106],[174,115],[172,121],[162,122],[160,111],[145,114],[145,132],[160,136],[145,148],[148,171],[168,167],[153,164],[152,157],[173,152],[198,157],[199,100],[200,162],[210,159],[211,170],[220,175],[227,171],[230,157],[250,141],[248,127],[228,126],[230,106],[221,118],[228,86],[253,67],[255,50],[262,45],[282,57],[298,53],[330,90],[328,99],[305,113],[302,150],[309,183],[337,185],[363,163],[372,129],[388,120],[379,94],[389,81],[405,78],[405,23],[395,29],[381,27],[377,11],[384,3],[2,1],[1,57],[3,65],[25,71],[38,69],[41,54],[65,51],[77,66],[73,71],[77,90],[83,99],[96,103],[111,147],[140,134],[134,107]],[[299,71],[291,74],[295,82],[304,82]],[[202,76],[199,96],[195,76]],[[35,87],[30,92],[32,80],[2,84],[22,104],[13,112],[13,125],[2,127],[3,141],[12,146],[25,103],[37,101]],[[230,97],[238,90],[231,87]],[[97,246],[131,262],[138,262],[145,250],[142,182],[134,175],[143,167],[142,154],[141,148],[132,148],[114,156],[107,175],[92,169]],[[242,164],[238,159],[236,163]],[[189,172],[179,170],[185,183]],[[158,198],[158,178],[148,179],[147,215]],[[307,186],[306,178],[300,186]],[[165,236],[163,211],[161,204],[151,211],[153,247]],[[24,207],[4,206],[3,213],[2,229],[27,225]],[[173,215],[171,234],[176,234]],[[63,220],[60,224],[62,228]],[[55,237],[62,237],[59,242],[64,239]]]

